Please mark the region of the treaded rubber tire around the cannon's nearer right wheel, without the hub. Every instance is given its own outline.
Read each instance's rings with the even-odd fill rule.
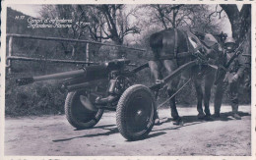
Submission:
[[[132,99],[135,99],[134,96],[138,94],[138,92],[143,92],[152,100],[152,107],[153,110],[150,111],[150,118],[147,125],[144,125],[146,129],[142,130],[139,133],[132,133],[129,131],[129,127],[127,121],[129,120],[129,112],[127,108],[129,108],[129,103],[132,103]],[[140,94],[138,94],[140,95]],[[155,99],[154,93],[151,91],[150,88],[148,88],[145,85],[142,84],[135,84],[130,87],[128,87],[120,97],[117,108],[116,108],[116,124],[118,131],[122,134],[123,137],[125,137],[127,140],[139,140],[145,138],[153,129],[154,127],[154,121],[156,119],[156,111],[157,111],[157,102]],[[131,120],[131,119],[130,119]],[[148,120],[148,119],[147,119]],[[133,127],[136,129],[135,127]]]

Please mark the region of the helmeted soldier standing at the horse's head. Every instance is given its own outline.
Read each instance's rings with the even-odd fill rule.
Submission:
[[[232,117],[240,120],[238,115],[238,87],[245,69],[242,54],[236,54],[235,40],[232,37],[227,37],[224,41],[224,56],[222,59],[223,66],[220,65],[217,73],[217,89],[215,95],[215,114],[216,118],[220,117],[222,99],[224,90],[228,89],[229,99],[232,107]],[[232,58],[234,56],[234,58]],[[231,60],[231,61],[230,61]],[[222,73],[223,72],[223,73]],[[223,77],[220,75],[224,75]]]

